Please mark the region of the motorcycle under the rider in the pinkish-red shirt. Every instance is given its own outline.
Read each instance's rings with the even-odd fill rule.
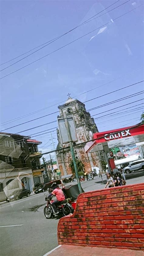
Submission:
[[[44,207],[44,215],[45,215],[46,219],[51,219],[55,214],[53,206],[51,205],[52,202],[54,201],[54,200],[52,200],[53,196],[51,196],[50,198],[48,198],[48,196],[46,194],[45,194],[45,196],[46,196],[45,200],[47,201],[47,205]],[[60,206],[57,206],[57,208],[59,210],[58,215],[67,216],[68,214],[74,212],[74,208],[73,208],[73,206],[71,206],[70,201],[71,201],[70,198],[65,199],[61,202]]]

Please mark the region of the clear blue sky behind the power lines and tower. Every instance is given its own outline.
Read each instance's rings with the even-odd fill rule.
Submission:
[[[114,2],[116,1],[1,1],[1,63],[67,32]],[[126,0],[120,0],[108,10],[124,2]],[[66,101],[68,93],[71,93],[71,96],[74,97],[87,90],[99,87],[77,97],[77,99],[84,102],[143,80],[143,69],[129,74],[143,67],[143,5],[113,22],[113,19],[136,8],[142,2],[137,0],[129,1],[2,71],[1,76],[9,74],[102,26],[101,29],[97,29],[77,42],[1,79],[1,130],[57,111],[57,103]],[[104,25],[108,22],[109,24]],[[2,65],[1,68],[8,66],[8,64],[12,64],[12,62]],[[125,74],[129,75],[103,85]],[[86,109],[142,90],[143,83],[87,102]],[[142,99],[142,95],[93,110],[90,113],[94,115],[139,99]],[[142,101],[129,106],[139,103],[142,103]],[[13,123],[3,124],[8,120],[53,104],[57,105]],[[97,118],[95,122],[98,124],[99,131],[124,127],[138,123],[141,112],[142,109],[139,112],[128,113],[129,115],[127,114],[126,116],[121,114],[114,117],[105,117],[104,119],[98,118],[100,116],[98,115],[95,116]],[[119,119],[108,122],[109,119],[117,117]],[[19,133],[56,119],[57,114],[53,114],[43,119],[5,130],[5,132]],[[26,131],[22,134],[30,135],[55,126],[57,126],[56,123]],[[35,138],[43,142],[43,150],[48,151],[53,148],[50,133]],[[53,132],[53,138],[55,145],[57,145],[56,132]],[[44,146],[44,144],[46,145]]]

